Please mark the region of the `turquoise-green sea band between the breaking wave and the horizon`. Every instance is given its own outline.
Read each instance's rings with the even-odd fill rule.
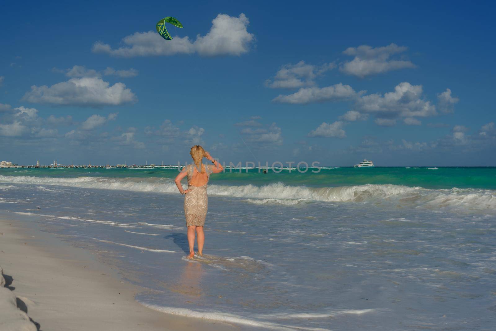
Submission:
[[[241,173],[240,173],[241,170]],[[419,186],[424,188],[482,188],[496,189],[496,167],[322,167],[309,168],[302,173],[296,167],[277,168],[261,176],[258,168],[233,168],[226,170],[222,176],[212,177],[213,181],[226,181],[236,184],[282,182],[288,185],[306,185],[311,187],[349,186],[363,184],[394,184]],[[434,171],[435,170],[435,171]],[[35,177],[157,177],[170,178],[177,174],[171,168],[1,168],[5,176]]]

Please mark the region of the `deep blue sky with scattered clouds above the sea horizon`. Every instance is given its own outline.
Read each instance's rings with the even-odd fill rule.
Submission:
[[[135,3],[4,5],[2,160],[495,165],[494,4]]]

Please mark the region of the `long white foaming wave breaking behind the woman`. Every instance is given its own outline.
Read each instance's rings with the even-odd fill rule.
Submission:
[[[177,193],[177,187],[173,179],[159,177],[53,178],[0,175],[0,182],[134,192]],[[312,188],[286,185],[279,182],[263,186],[210,184],[208,194],[244,198],[244,201],[255,204],[297,205],[309,202],[393,202],[402,206],[412,207],[456,208],[464,211],[496,212],[496,191],[473,188],[425,189],[393,184]]]

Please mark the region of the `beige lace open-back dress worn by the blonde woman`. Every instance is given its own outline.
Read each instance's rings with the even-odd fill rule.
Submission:
[[[204,165],[207,178],[210,179],[212,173],[211,165]],[[185,197],[185,217],[186,226],[196,225],[203,226],[205,217],[207,216],[208,197],[207,197],[207,182],[202,186],[194,186],[189,182],[193,177],[194,165],[186,165],[187,171],[187,189],[191,190],[186,193]],[[198,170],[198,169],[197,169]]]

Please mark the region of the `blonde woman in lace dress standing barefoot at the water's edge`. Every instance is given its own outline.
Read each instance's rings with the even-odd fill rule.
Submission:
[[[186,194],[185,197],[185,217],[187,226],[187,241],[189,244],[188,259],[194,257],[194,232],[197,234],[198,255],[203,256],[203,243],[205,235],[203,233],[203,225],[207,216],[208,197],[207,183],[211,173],[218,173],[224,170],[222,165],[214,160],[208,152],[199,146],[191,147],[189,152],[193,162],[186,165],[176,177],[176,185],[181,194]],[[201,163],[203,157],[207,158],[213,165],[204,165]],[[183,190],[181,180],[187,176],[187,190]]]

